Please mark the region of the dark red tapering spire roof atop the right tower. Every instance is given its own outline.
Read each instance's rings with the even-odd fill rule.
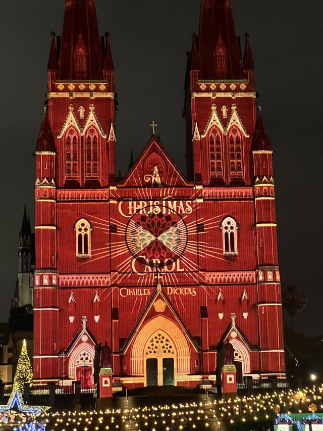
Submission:
[[[226,79],[239,79],[241,74],[241,54],[239,41],[234,28],[231,0],[202,0],[199,31],[199,54],[213,60],[217,42],[222,35],[223,45],[228,53],[228,67]],[[201,57],[200,57],[201,59]],[[208,64],[207,60],[203,60]],[[203,70],[202,77],[206,79],[218,78],[214,75],[214,67]],[[221,77],[221,79],[223,79]]]

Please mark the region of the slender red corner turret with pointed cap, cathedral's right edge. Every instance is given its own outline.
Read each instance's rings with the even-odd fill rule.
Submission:
[[[267,351],[283,349],[280,271],[277,255],[277,224],[273,149],[259,109],[252,139],[255,196],[255,234],[258,269],[258,318],[261,367],[284,369],[281,358],[270,358]],[[270,322],[270,324],[268,324]],[[279,354],[278,354],[279,355]],[[275,362],[274,362],[275,361]]]

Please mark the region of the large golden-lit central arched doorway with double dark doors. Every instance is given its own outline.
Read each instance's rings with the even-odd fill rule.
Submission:
[[[177,385],[179,375],[190,373],[190,349],[180,327],[157,316],[138,332],[131,351],[133,375],[144,376],[145,386]]]

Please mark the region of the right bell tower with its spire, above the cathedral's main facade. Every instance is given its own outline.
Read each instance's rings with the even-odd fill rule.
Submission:
[[[248,40],[242,61],[231,0],[202,0],[185,86],[188,177],[205,185],[250,184],[253,63]]]

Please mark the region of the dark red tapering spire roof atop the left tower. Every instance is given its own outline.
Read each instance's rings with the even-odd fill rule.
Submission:
[[[63,34],[60,44],[61,79],[77,79],[75,48],[80,34],[84,40],[87,54],[84,79],[101,79],[103,53],[94,0],[65,0]]]

